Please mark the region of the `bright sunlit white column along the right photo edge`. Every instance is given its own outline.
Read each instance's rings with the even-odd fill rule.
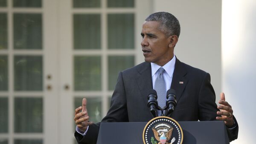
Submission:
[[[255,144],[256,0],[222,2],[222,89],[239,123],[232,144]]]

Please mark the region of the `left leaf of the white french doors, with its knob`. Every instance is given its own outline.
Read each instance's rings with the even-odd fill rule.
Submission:
[[[57,144],[57,3],[0,0],[0,144]]]

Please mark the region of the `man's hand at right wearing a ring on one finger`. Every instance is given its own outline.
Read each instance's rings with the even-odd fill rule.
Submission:
[[[234,124],[233,110],[231,105],[225,101],[224,93],[221,93],[221,99],[218,101],[218,103],[220,104],[218,106],[218,109],[220,111],[217,111],[217,114],[221,116],[217,116],[216,119],[220,121],[224,121],[227,127],[232,127]]]

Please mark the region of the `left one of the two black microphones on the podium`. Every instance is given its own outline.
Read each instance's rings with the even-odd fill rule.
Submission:
[[[153,89],[148,90],[148,108],[153,117],[157,117],[157,92]]]

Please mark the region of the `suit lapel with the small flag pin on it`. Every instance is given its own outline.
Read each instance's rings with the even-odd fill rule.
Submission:
[[[180,97],[183,93],[183,90],[187,84],[187,79],[185,77],[186,73],[187,71],[184,68],[183,63],[176,58],[175,69],[172,76],[171,88],[176,91],[177,103],[179,102]]]

